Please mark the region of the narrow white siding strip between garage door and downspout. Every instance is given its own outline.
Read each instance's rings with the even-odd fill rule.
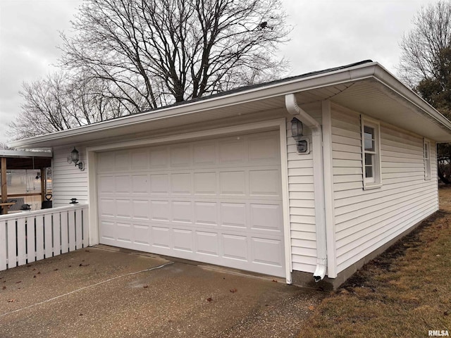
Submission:
[[[304,111],[321,121],[321,103],[302,106]],[[288,192],[292,269],[314,273],[316,268],[316,222],[313,180],[313,147],[310,154],[297,154],[296,142],[291,136],[290,118],[287,118]],[[311,141],[311,131],[304,128],[304,136]]]

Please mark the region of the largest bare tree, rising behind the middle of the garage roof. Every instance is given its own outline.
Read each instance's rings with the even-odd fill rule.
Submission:
[[[280,0],[88,0],[61,64],[108,83],[130,113],[273,80]]]

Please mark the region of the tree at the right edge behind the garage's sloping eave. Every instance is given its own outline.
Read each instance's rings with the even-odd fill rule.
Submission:
[[[402,37],[400,76],[431,106],[451,118],[451,1],[421,8]],[[438,175],[451,183],[451,144],[438,144]]]

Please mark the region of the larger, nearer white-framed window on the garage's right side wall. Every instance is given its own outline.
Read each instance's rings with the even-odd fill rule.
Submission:
[[[364,189],[381,187],[379,124],[362,118],[362,162]]]

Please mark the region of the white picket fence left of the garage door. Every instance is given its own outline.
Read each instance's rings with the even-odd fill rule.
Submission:
[[[88,206],[0,215],[0,271],[89,244]]]

